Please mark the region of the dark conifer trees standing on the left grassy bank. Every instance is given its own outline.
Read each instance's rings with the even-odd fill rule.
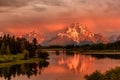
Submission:
[[[30,43],[25,38],[10,36],[9,34],[0,37],[0,55],[24,54],[25,59],[35,56],[46,58],[48,54],[42,52],[39,47],[36,38]]]

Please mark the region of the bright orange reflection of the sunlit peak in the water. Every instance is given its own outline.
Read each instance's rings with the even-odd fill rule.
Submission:
[[[73,72],[85,72],[89,65],[93,65],[94,58],[80,54],[74,54],[69,58],[61,58],[58,63],[68,67]]]

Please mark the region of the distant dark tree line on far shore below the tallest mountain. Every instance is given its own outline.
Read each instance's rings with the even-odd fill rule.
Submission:
[[[60,45],[53,45],[53,46],[47,46],[43,47],[46,49],[55,49],[55,48],[62,48],[62,49],[73,49],[73,50],[81,50],[81,51],[87,51],[87,50],[120,50],[120,41],[116,41],[113,43],[103,44],[85,44],[85,45],[66,45],[66,46],[60,46]]]

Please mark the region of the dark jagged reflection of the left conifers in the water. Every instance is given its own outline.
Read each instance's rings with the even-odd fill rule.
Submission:
[[[21,65],[6,66],[0,68],[0,77],[11,80],[11,77],[26,75],[28,78],[32,75],[41,74],[43,68],[47,67],[49,62],[26,63]]]

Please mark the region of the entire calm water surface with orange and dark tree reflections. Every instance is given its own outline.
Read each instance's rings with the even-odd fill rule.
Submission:
[[[120,66],[120,55],[49,51],[49,60],[0,67],[0,80],[85,80],[84,76],[98,70],[105,72]]]

